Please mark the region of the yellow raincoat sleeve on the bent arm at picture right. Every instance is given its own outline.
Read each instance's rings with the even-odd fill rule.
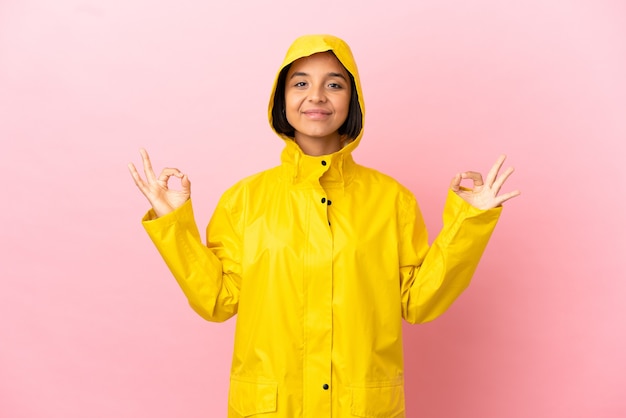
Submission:
[[[399,242],[402,316],[407,322],[432,321],[467,288],[501,212],[502,207],[476,209],[449,191],[443,229],[429,247],[411,196]]]

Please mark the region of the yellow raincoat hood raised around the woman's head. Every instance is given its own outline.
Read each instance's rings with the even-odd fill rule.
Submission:
[[[293,44],[289,47],[287,54],[285,55],[285,59],[283,60],[282,65],[278,69],[276,74],[276,78],[274,79],[274,84],[272,87],[272,93],[270,95],[270,101],[268,106],[268,116],[270,126],[276,132],[278,136],[280,136],[287,144],[287,148],[292,148],[289,151],[300,153],[300,147],[295,143],[293,138],[278,133],[276,129],[274,129],[273,124],[273,116],[272,110],[274,108],[274,96],[276,94],[276,88],[278,86],[278,79],[280,77],[281,72],[285,67],[293,63],[299,58],[308,57],[313,54],[317,54],[319,52],[327,52],[331,51],[335,54],[339,62],[343,64],[345,69],[352,75],[354,79],[354,84],[356,88],[356,92],[358,95],[359,107],[361,108],[361,130],[358,136],[344,145],[344,147],[337,151],[335,154],[350,154],[359,144],[361,137],[363,136],[363,122],[365,119],[365,106],[363,104],[363,93],[361,91],[361,81],[359,79],[359,72],[357,70],[356,62],[354,57],[352,56],[352,51],[348,44],[342,39],[333,36],[333,35],[305,35],[296,39]],[[299,152],[300,151],[300,152]]]

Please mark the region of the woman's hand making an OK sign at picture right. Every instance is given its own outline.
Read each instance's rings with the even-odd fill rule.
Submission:
[[[452,179],[450,188],[463,200],[478,209],[492,209],[502,205],[509,199],[520,195],[519,190],[498,195],[500,188],[507,178],[513,173],[513,167],[509,167],[500,175],[498,172],[506,159],[506,155],[501,155],[498,161],[491,167],[487,178],[483,181],[483,176],[476,171],[466,171],[458,173]],[[470,179],[474,182],[472,189],[461,186],[463,179]]]

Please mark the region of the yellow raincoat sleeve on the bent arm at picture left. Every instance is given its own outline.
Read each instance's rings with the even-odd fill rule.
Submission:
[[[225,200],[207,227],[207,245],[198,233],[191,200],[160,218],[150,210],[142,221],[191,307],[214,322],[237,313],[241,284],[241,235]]]

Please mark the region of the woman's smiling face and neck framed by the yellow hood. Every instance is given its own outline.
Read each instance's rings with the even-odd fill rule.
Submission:
[[[330,52],[300,58],[285,81],[285,112],[296,143],[341,148],[339,128],[350,109],[350,77]]]

